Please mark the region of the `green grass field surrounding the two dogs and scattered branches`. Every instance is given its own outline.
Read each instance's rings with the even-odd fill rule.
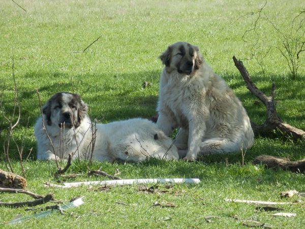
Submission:
[[[303,203],[281,206],[296,217],[272,217],[273,212],[256,210],[255,205],[226,203],[225,198],[294,202],[281,199],[280,192],[290,189],[305,192],[305,177],[283,170],[254,166],[255,156],[268,154],[304,158],[303,141],[292,142],[283,137],[256,136],[255,145],[241,155],[202,158],[199,162],[148,160],[144,163],[118,164],[73,162],[69,173],[79,173],[76,181],[87,178],[87,166],[102,167],[109,174],[119,169],[123,179],[135,178],[199,178],[198,185],[174,185],[164,194],[143,193],[136,185],[99,191],[98,187],[62,190],[45,188],[44,182],[56,183],[53,162],[35,159],[36,140],[33,125],[40,115],[38,96],[42,102],[56,92],[78,93],[90,107],[90,117],[108,123],[134,117],[149,118],[156,114],[158,83],[163,68],[158,56],[176,41],[198,45],[205,60],[225,78],[246,107],[252,121],[265,120],[265,108],[254,105],[257,100],[245,87],[232,61],[243,59],[257,86],[269,95],[271,82],[277,85],[279,116],[305,130],[305,70],[292,80],[286,60],[272,48],[263,60],[263,69],[251,56],[255,43],[253,28],[264,1],[12,1],[0,2],[0,152],[7,139],[7,116],[13,113],[14,82],[12,65],[21,98],[21,121],[14,132],[17,144],[24,143],[24,162],[28,189],[40,194],[54,193],[63,202],[82,195],[85,204],[65,215],[30,219],[11,227],[20,228],[242,228],[243,220],[257,220],[275,228],[301,228],[305,223]],[[305,9],[301,0],[269,1],[264,8],[268,19],[282,32],[289,33],[292,19]],[[254,13],[250,13],[254,12]],[[250,13],[250,14],[249,14]],[[264,16],[265,17],[265,16]],[[302,28],[304,30],[304,27]],[[257,52],[281,45],[281,37],[266,19],[258,20]],[[97,38],[100,39],[83,52]],[[303,54],[303,53],[302,53]],[[301,56],[304,63],[305,56]],[[263,71],[262,71],[263,70]],[[143,88],[147,81],[149,88]],[[16,147],[11,144],[11,158],[18,174],[21,170]],[[6,169],[0,154],[0,168]],[[29,199],[22,194],[0,194],[2,202]],[[155,202],[170,202],[176,208],[153,207]],[[116,204],[122,202],[127,205]],[[0,227],[16,215],[34,214],[26,208],[0,207]],[[38,210],[39,211],[39,210]],[[219,216],[207,222],[205,216]],[[238,219],[236,219],[238,218]]]

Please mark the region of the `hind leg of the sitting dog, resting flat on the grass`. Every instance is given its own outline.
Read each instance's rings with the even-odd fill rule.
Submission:
[[[199,155],[239,152],[242,144],[224,138],[210,138],[204,140],[200,146]]]

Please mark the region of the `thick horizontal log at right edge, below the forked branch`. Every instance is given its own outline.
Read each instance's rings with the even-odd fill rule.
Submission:
[[[289,169],[295,173],[303,173],[305,171],[305,159],[300,161],[290,161],[288,158],[275,157],[269,155],[257,156],[253,164],[265,164],[268,168],[279,167],[282,169]]]

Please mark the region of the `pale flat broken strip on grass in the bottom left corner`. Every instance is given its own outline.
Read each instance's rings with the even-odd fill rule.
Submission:
[[[69,209],[69,208],[78,207],[78,206],[82,205],[83,203],[84,202],[82,201],[82,197],[77,197],[72,202],[69,202],[68,204],[64,204],[64,205],[60,206],[60,208],[62,210],[66,210],[66,209]],[[46,217],[46,216],[50,215],[54,211],[55,210],[48,210],[48,211],[40,212],[40,213],[31,215],[31,216],[19,217],[19,218],[16,218],[16,219],[13,219],[13,220],[7,222],[7,224],[20,223],[20,222],[23,222],[27,219],[32,219],[32,218],[37,218],[37,219],[38,218],[43,218],[43,217]]]

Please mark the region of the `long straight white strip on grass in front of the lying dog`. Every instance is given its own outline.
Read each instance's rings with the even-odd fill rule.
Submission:
[[[147,183],[198,184],[200,183],[200,180],[196,178],[129,179],[129,180],[72,182],[72,183],[64,183],[64,185],[53,185],[47,183],[45,184],[45,186],[58,187],[58,188],[71,188],[71,187],[78,187],[81,185],[130,185],[130,184],[147,184]]]

